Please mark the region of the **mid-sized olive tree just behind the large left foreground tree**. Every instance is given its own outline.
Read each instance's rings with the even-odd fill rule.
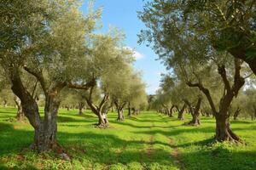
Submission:
[[[93,35],[92,37],[94,38],[90,43],[88,54],[90,65],[87,66],[89,76],[81,80],[95,83],[88,92],[80,93],[83,94],[91,111],[98,116],[98,126],[108,127],[106,106],[111,100],[115,103],[121,102],[117,101],[117,96],[120,99],[120,96],[125,94],[126,84],[124,82],[129,78],[129,69],[133,60],[132,51],[124,48],[122,42],[124,35],[115,30],[109,31],[106,35]],[[119,111],[121,111],[120,108]]]

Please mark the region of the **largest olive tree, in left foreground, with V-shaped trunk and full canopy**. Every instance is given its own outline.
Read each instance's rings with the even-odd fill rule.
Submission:
[[[86,63],[86,35],[94,30],[99,13],[84,16],[77,1],[4,1],[1,5],[1,65],[35,131],[32,148],[58,147],[57,113],[60,93],[76,88],[81,64]],[[82,71],[81,71],[82,70]],[[44,118],[23,73],[35,77],[44,92]],[[79,84],[89,88],[94,82]]]

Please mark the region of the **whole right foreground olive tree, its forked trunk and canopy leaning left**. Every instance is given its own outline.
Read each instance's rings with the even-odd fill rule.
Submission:
[[[167,69],[174,68],[176,73],[181,72],[183,81],[190,88],[198,88],[206,96],[216,119],[215,139],[221,142],[240,141],[230,129],[228,110],[245,83],[245,77],[241,75],[244,65],[240,59],[232,59],[230,54],[216,51],[211,40],[204,35],[190,31],[194,23],[183,22],[183,12],[178,5],[173,4],[176,2],[180,3],[169,2],[166,7],[165,2],[154,1],[145,6],[140,18],[148,30],[142,32],[141,41],[154,42],[152,47]],[[217,76],[221,80],[218,88],[223,89],[223,92],[218,102],[215,102],[205,82],[213,81],[211,78]]]

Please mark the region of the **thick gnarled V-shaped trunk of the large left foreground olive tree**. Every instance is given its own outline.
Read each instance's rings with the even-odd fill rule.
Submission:
[[[39,152],[54,149],[55,146],[58,146],[56,142],[56,117],[60,105],[58,94],[61,89],[65,87],[65,83],[56,83],[55,86],[49,90],[44,88],[45,105],[43,120],[38,111],[38,103],[36,99],[32,97],[32,94],[24,87],[20,78],[20,71],[17,68],[11,70],[10,80],[14,94],[18,96],[21,101],[22,111],[35,130],[32,148]],[[42,86],[44,87],[43,80]]]

